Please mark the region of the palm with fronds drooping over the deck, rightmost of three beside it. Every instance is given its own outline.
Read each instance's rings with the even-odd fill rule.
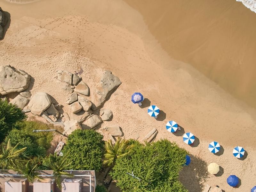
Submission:
[[[69,174],[68,172],[64,172],[63,170],[67,169],[68,166],[72,163],[67,163],[67,157],[68,154],[66,153],[62,157],[56,156],[56,154],[49,155],[49,163],[48,167],[53,170],[53,177],[55,178],[56,185],[59,189],[61,189],[61,178],[63,176],[71,178],[73,177],[72,174]]]

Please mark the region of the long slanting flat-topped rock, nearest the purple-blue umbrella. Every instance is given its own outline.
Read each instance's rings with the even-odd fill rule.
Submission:
[[[104,71],[96,89],[97,95],[91,100],[93,103],[92,110],[99,108],[121,83],[120,79],[114,76],[111,71]]]

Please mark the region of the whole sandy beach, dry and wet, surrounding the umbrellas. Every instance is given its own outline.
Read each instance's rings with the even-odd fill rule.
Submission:
[[[65,111],[68,93],[53,80],[57,69],[83,69],[92,93],[101,71],[111,70],[123,84],[105,103],[104,108],[113,110],[113,120],[102,126],[121,126],[126,139],[134,133],[142,139],[155,127],[157,139],[187,149],[192,163],[181,171],[180,180],[191,192],[202,191],[206,184],[226,192],[245,192],[256,185],[255,109],[234,98],[242,91],[241,99],[254,106],[256,14],[241,3],[127,2],[141,13],[121,0],[0,3],[11,15],[0,41],[0,63],[28,72],[35,79],[32,94],[49,93]],[[143,108],[130,101],[136,91],[147,98]],[[158,119],[148,116],[149,103],[162,110]],[[190,147],[181,136],[167,132],[169,120],[194,133],[200,143]],[[213,140],[223,146],[221,156],[208,151]],[[232,155],[237,145],[248,152],[243,161]],[[221,176],[207,173],[211,162],[223,167]],[[241,179],[239,188],[228,186],[229,174]]]

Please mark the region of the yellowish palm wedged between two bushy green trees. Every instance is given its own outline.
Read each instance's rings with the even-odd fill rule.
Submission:
[[[115,164],[117,158],[128,155],[132,150],[132,145],[129,145],[128,140],[118,137],[115,144],[111,140],[105,141],[105,150],[103,164],[110,166]]]

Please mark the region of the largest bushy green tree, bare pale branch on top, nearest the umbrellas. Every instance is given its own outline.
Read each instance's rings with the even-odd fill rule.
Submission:
[[[178,180],[186,154],[168,140],[145,145],[133,141],[131,153],[116,159],[110,175],[124,192],[188,192]]]

